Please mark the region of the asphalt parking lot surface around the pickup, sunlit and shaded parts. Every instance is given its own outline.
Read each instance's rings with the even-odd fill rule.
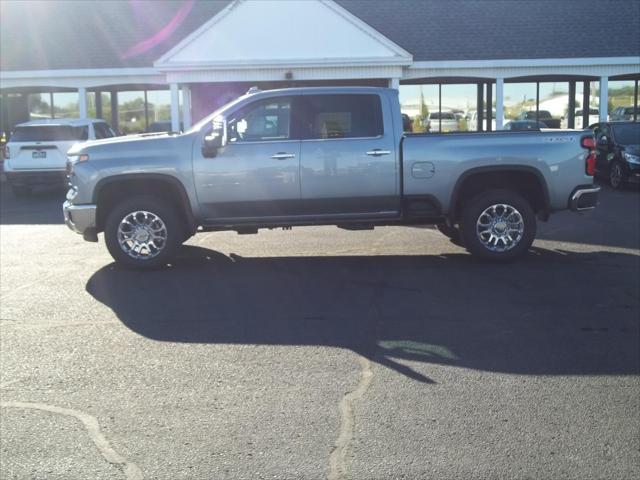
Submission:
[[[135,272],[5,187],[1,478],[640,475],[638,189],[510,265],[313,227]]]

